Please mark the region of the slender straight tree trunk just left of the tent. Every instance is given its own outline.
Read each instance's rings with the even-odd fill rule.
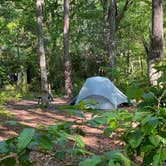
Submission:
[[[65,98],[71,97],[71,65],[69,55],[69,0],[64,0],[64,75],[65,75]]]

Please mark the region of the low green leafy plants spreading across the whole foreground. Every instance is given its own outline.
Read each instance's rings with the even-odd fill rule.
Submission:
[[[53,153],[54,157],[59,160],[63,160],[68,154],[80,156],[81,161],[77,161],[80,166],[129,166],[134,164],[132,159],[138,156],[145,166],[162,165],[166,159],[166,109],[161,104],[165,91],[162,93],[160,93],[160,89],[158,89],[159,92],[156,91],[144,92],[141,96],[142,103],[138,105],[135,112],[124,109],[118,111],[86,110],[84,103],[78,106],[60,107],[70,116],[77,116],[83,121],[57,123],[53,126],[41,127],[36,131],[34,129],[23,130],[18,137],[0,142],[0,156],[3,159],[1,163],[15,162],[18,158],[20,164],[31,165],[29,152],[38,149],[44,153]],[[161,96],[159,96],[160,94]],[[87,111],[92,112],[90,120],[86,119],[84,115]],[[86,147],[79,136],[85,134],[79,128],[79,125],[82,124],[92,125],[93,127],[104,125],[103,134],[109,135],[110,138],[112,138],[113,132],[121,131],[119,139],[125,142],[125,148],[105,152],[101,155],[86,151]],[[77,127],[73,128],[73,125],[77,125]],[[9,156],[11,152],[15,154],[14,157]],[[88,158],[85,159],[85,155],[88,155]]]

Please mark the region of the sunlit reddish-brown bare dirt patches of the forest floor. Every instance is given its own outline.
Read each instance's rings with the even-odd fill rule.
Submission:
[[[55,98],[49,109],[42,110],[38,107],[35,100],[21,99],[17,102],[7,102],[3,107],[13,116],[0,116],[0,141],[18,135],[23,129],[18,125],[4,123],[6,120],[16,120],[23,125],[34,128],[53,125],[56,121],[73,122],[79,120],[76,116],[69,116],[66,111],[58,110],[58,106],[66,104],[67,102],[64,99]],[[91,113],[85,113],[85,116],[90,119]],[[83,125],[81,129],[85,133],[85,136],[81,137],[86,149],[95,154],[102,154],[113,149],[121,149],[124,146],[124,143],[119,138],[120,133],[116,133],[110,139],[109,136],[103,135],[103,127],[94,128]],[[33,160],[37,161],[35,166],[61,166],[68,165],[67,163],[69,163],[69,161],[59,162],[51,156],[35,152],[32,156]],[[68,158],[67,160],[71,159]]]

